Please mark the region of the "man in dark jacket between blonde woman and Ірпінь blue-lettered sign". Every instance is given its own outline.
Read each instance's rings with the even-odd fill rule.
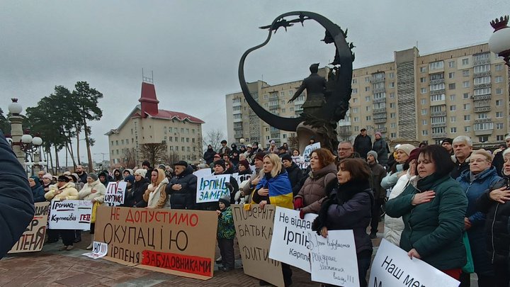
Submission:
[[[174,171],[176,175],[166,186],[166,194],[170,195],[170,208],[197,209],[197,177],[193,174],[193,168],[181,160],[174,164]]]

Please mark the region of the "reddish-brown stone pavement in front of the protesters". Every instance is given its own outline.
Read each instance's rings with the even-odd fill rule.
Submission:
[[[379,225],[382,230],[382,223]],[[239,249],[236,247],[236,269],[218,271],[207,281],[163,274],[124,266],[105,259],[90,259],[81,254],[89,252],[90,235],[84,232],[83,241],[72,251],[58,251],[61,242],[45,244],[42,252],[9,254],[0,260],[0,286],[259,286],[259,280],[243,273]],[[374,254],[382,233],[373,240]],[[220,254],[216,250],[216,257]],[[293,268],[293,286],[319,286],[310,281],[310,274]],[[472,287],[477,287],[476,279]]]

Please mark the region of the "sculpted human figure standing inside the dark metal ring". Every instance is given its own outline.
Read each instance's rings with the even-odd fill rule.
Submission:
[[[324,91],[326,91],[326,79],[324,77],[319,76],[317,72],[319,71],[319,64],[312,64],[310,66],[310,76],[302,81],[301,86],[295,92],[292,99],[288,102],[294,101],[300,94],[307,91],[307,99],[305,103],[303,103],[303,113],[314,114],[317,112],[324,103],[326,103],[326,99],[324,99]]]

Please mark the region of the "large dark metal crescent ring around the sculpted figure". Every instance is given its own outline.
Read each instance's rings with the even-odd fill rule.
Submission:
[[[298,16],[298,18],[294,18],[292,20],[285,19],[285,17],[290,16]],[[271,40],[271,32],[274,31],[274,33],[276,33],[276,30],[280,27],[287,30],[287,28],[293,26],[294,23],[301,23],[301,25],[304,26],[304,22],[306,20],[317,21],[317,23],[324,27],[324,29],[326,29],[323,40],[324,43],[334,43],[336,47],[334,61],[331,63],[334,65],[334,68],[331,69],[331,72],[329,73],[329,79],[324,93],[326,104],[322,106],[322,108],[319,108],[318,111],[314,111],[312,115],[302,113],[301,116],[297,118],[283,118],[266,111],[266,109],[260,106],[259,103],[251,96],[248,84],[246,84],[246,79],[244,78],[244,61],[250,52],[253,52],[254,50],[257,50],[269,43],[269,40]],[[322,133],[325,137],[331,137],[330,145],[333,145],[333,142],[336,142],[336,132],[334,132],[336,122],[344,118],[348,110],[348,101],[351,99],[352,91],[351,80],[354,54],[351,52],[351,48],[353,47],[352,43],[349,45],[346,42],[347,30],[344,32],[344,30],[324,16],[307,11],[283,13],[278,16],[271,25],[263,26],[261,28],[269,30],[266,41],[246,50],[239,62],[239,84],[241,84],[244,98],[256,115],[274,128],[278,128],[279,130],[296,131],[297,125],[305,122],[305,124],[312,125],[314,128],[322,128]],[[332,150],[336,150],[336,148]]]

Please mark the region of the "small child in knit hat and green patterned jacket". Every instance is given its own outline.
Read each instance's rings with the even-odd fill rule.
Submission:
[[[220,247],[222,271],[230,271],[234,269],[234,237],[235,227],[232,217],[232,209],[230,208],[230,196],[225,194],[218,201],[217,224],[217,242]]]

